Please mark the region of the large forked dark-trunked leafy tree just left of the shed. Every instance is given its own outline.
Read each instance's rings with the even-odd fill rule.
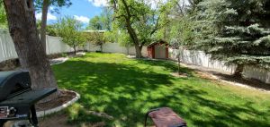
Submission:
[[[155,34],[166,26],[166,16],[172,5],[161,1],[153,5],[145,0],[111,0],[110,4],[113,6],[113,23],[116,26],[113,30],[130,35],[136,57],[142,56],[143,46],[157,40]]]

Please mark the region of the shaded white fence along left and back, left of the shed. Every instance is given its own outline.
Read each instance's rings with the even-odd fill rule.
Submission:
[[[85,47],[79,49],[85,49],[87,51],[101,51],[101,47],[94,46],[91,43],[86,43]],[[135,55],[135,47],[121,47],[118,43],[105,43],[103,45],[103,52],[105,53],[121,53]],[[73,48],[68,47],[67,44],[61,42],[61,38],[58,37],[46,37],[46,54],[61,54],[73,52]],[[142,48],[142,55],[147,55],[147,48]],[[4,30],[0,30],[0,62],[5,60],[17,58],[18,55],[15,51],[14,43],[9,33]]]

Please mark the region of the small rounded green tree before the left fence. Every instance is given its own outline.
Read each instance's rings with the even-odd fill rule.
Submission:
[[[59,18],[56,24],[58,30],[58,36],[62,38],[62,41],[69,47],[74,49],[74,55],[76,55],[76,48],[84,46],[86,38],[84,34],[80,32],[82,24],[76,21],[73,17]]]

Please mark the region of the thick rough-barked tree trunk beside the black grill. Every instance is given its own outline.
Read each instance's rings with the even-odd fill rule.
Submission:
[[[33,0],[4,0],[4,8],[22,68],[30,72],[32,89],[58,88],[40,43]],[[46,101],[57,95],[50,96]]]

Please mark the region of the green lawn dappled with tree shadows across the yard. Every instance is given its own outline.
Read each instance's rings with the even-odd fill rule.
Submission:
[[[270,126],[270,94],[197,77],[175,78],[176,64],[145,61],[118,54],[86,54],[53,66],[58,86],[81,95],[65,114],[69,122],[107,126],[142,126],[151,108],[169,106],[189,126]],[[103,112],[106,120],[87,114]],[[151,123],[149,123],[151,124]]]

